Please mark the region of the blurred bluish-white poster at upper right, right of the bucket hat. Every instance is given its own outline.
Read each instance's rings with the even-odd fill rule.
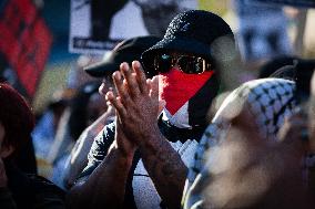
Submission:
[[[281,7],[234,0],[238,17],[240,51],[246,61],[258,61],[292,53],[288,20]]]

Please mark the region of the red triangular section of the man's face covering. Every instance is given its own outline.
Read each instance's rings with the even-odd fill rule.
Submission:
[[[186,74],[176,67],[172,67],[166,73],[160,73],[160,100],[166,102],[165,108],[174,115],[204,86],[213,74],[214,71]]]

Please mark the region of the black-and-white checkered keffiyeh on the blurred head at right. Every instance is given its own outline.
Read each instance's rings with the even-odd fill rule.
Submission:
[[[228,109],[234,108],[235,103],[246,103],[261,127],[260,134],[264,138],[275,139],[284,118],[292,115],[296,106],[294,92],[295,83],[282,79],[255,80],[233,91],[223,102],[201,139],[195,154],[195,164],[190,169],[189,184],[191,185],[199,174],[206,175],[203,174],[209,170],[204,153],[224,138],[230,124],[223,114],[226,115]]]

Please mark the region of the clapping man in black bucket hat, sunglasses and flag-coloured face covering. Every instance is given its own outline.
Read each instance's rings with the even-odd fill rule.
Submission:
[[[219,91],[221,62],[234,50],[224,20],[191,10],[176,15],[163,40],[142,54],[144,70],[159,76],[145,81],[139,62],[132,70],[121,64],[113,74],[118,95],[106,94],[118,113],[115,140],[108,151],[113,127],[96,140],[89,160],[99,161],[99,167],[90,167],[94,171],[78,182],[70,200],[77,198],[75,206],[179,208],[187,167]],[[161,101],[166,105],[156,122]]]

